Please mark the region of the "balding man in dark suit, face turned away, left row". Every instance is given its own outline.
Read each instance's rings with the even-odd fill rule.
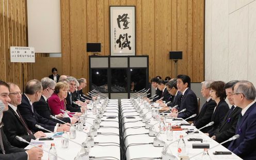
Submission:
[[[61,132],[64,129],[69,131],[70,127],[67,125],[60,125],[59,123],[46,119],[40,116],[34,108],[33,103],[39,101],[42,95],[41,82],[34,79],[27,82],[25,85],[25,93],[22,95],[21,104],[18,105],[18,109],[26,121],[28,128],[31,131],[43,131],[35,125],[40,125],[43,128],[52,132]],[[44,131],[45,132],[45,131]]]

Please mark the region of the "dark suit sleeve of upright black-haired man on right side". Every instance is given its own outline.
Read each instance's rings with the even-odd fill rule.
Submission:
[[[195,94],[187,94],[184,98],[185,98],[184,101],[181,102],[182,106],[180,106],[180,110],[183,110],[185,107],[186,111],[179,113],[178,118],[185,119],[195,113],[198,114],[198,104],[197,104],[196,95]]]

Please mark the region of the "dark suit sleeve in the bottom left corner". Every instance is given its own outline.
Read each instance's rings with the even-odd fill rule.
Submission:
[[[3,144],[6,154],[0,154],[2,160],[27,160],[27,153],[25,149],[13,147],[7,140],[4,132],[1,129]],[[2,152],[2,151],[1,151]]]

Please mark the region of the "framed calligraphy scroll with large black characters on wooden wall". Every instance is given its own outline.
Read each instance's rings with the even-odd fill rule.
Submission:
[[[135,6],[110,6],[110,55],[135,56]]]

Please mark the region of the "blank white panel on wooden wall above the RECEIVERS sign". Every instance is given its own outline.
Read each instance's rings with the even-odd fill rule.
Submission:
[[[27,0],[28,46],[41,53],[61,52],[60,0]]]

